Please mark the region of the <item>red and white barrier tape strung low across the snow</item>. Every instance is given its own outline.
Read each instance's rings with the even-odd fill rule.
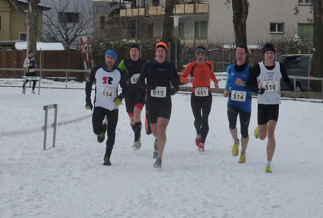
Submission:
[[[83,116],[77,119],[71,119],[71,120],[66,120],[63,122],[57,122],[56,126],[64,126],[64,125],[69,125],[72,123],[77,123],[77,122],[81,122],[85,119],[91,118],[92,114],[89,114],[87,116]],[[54,123],[48,124],[47,125],[47,129],[52,129],[54,128]],[[5,136],[16,136],[16,135],[28,135],[31,133],[35,133],[35,132],[41,132],[44,131],[44,126],[42,126],[41,128],[34,128],[34,129],[26,129],[26,130],[16,130],[16,131],[10,131],[10,132],[0,132],[0,137],[5,137]]]

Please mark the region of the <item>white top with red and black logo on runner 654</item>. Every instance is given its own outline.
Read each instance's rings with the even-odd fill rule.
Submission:
[[[107,72],[99,68],[95,73],[95,103],[94,107],[101,107],[108,110],[118,109],[114,104],[114,99],[118,95],[118,86],[121,79],[121,73],[118,69]]]

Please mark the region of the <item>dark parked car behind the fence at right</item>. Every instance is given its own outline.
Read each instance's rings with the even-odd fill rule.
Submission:
[[[285,64],[288,76],[305,76],[313,77],[313,54],[287,54],[281,55],[277,58],[277,61]],[[310,67],[310,69],[309,69]],[[294,83],[294,79],[291,78],[291,82]],[[288,91],[286,84],[281,81],[281,90]],[[298,91],[312,91],[313,82],[306,79],[296,79],[295,89]]]

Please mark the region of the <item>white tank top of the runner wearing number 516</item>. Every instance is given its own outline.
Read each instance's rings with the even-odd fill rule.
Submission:
[[[263,62],[259,62],[260,75],[257,77],[258,88],[264,88],[264,94],[258,94],[258,104],[263,105],[278,105],[281,102],[280,94],[280,72],[279,62],[275,61],[275,67],[268,70]]]

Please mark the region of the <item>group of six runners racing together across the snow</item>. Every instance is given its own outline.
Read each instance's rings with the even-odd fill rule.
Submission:
[[[93,132],[97,141],[103,142],[107,131],[106,152],[103,165],[111,165],[110,156],[115,141],[118,121],[118,106],[125,99],[130,124],[134,131],[133,150],[141,148],[141,112],[146,104],[146,128],[155,137],[154,166],[161,168],[162,154],[166,144],[166,128],[171,114],[171,95],[179,91],[179,84],[192,83],[191,108],[196,129],[195,144],[198,151],[204,152],[209,132],[208,117],[212,107],[211,80],[219,89],[218,80],[213,73],[213,62],[206,61],[206,49],[198,47],[196,61],[189,63],[179,77],[176,67],[166,60],[167,45],[158,43],[156,58],[147,61],[139,57],[140,47],[136,43],[129,46],[130,57],[115,66],[118,54],[109,49],[105,63],[92,69],[86,82],[86,109],[91,104],[92,84],[96,81],[94,110],[92,117]],[[268,138],[267,164],[265,172],[271,173],[271,160],[275,151],[275,127],[280,104],[280,79],[294,91],[283,64],[274,61],[275,49],[271,44],[263,47],[264,61],[251,67],[245,62],[248,49],[245,45],[237,47],[237,62],[227,68],[228,79],[224,97],[228,97],[229,129],[234,140],[232,155],[238,156],[240,140],[237,131],[237,118],[240,115],[242,150],[239,163],[245,163],[245,153],[249,140],[248,126],[251,115],[251,92],[258,93],[258,127],[254,136],[261,140]],[[122,92],[118,95],[118,86]],[[107,123],[103,122],[107,117]]]

